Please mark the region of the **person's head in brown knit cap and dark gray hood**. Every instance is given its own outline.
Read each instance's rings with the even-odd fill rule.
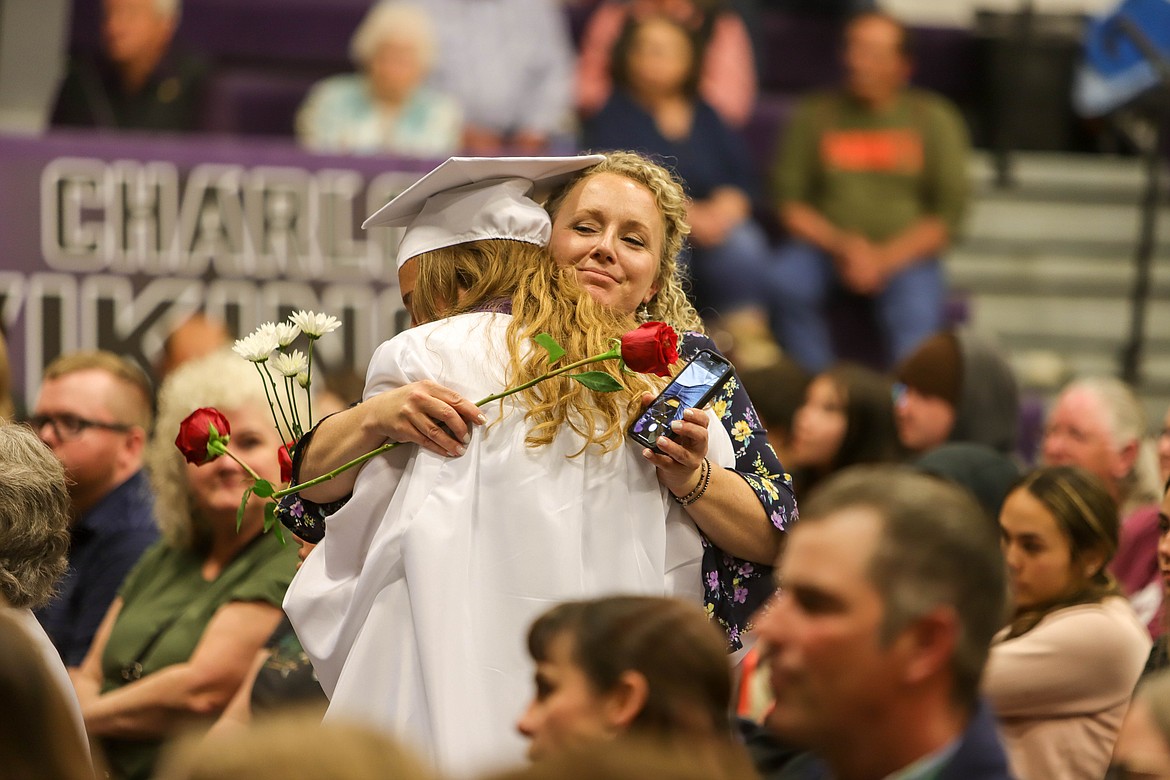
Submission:
[[[1016,448],[1019,388],[1007,359],[980,334],[957,329],[923,341],[894,372],[897,435],[923,454],[947,442]]]

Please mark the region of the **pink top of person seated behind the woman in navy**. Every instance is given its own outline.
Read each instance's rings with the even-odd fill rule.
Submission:
[[[626,23],[629,6],[601,2],[581,35],[577,58],[577,109],[583,116],[597,112],[610,99],[610,55]],[[756,62],[748,26],[734,12],[720,14],[703,57],[698,92],[734,127],[742,127],[756,106]]]

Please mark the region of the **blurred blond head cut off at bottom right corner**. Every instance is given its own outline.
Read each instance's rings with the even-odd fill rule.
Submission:
[[[1142,682],[1121,724],[1107,780],[1170,780],[1170,672]]]

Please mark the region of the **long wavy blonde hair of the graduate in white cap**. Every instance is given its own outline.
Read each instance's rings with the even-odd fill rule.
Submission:
[[[613,311],[589,296],[572,269],[557,268],[544,247],[507,239],[469,241],[418,256],[418,279],[411,305],[429,322],[509,302],[508,385],[515,387],[548,371],[531,339],[549,333],[565,348],[562,365],[606,352],[612,339],[636,326],[633,316]],[[459,303],[450,305],[449,302]],[[597,366],[615,374],[614,365]],[[641,408],[644,392],[656,393],[660,380],[624,374],[622,389],[596,393],[567,377],[557,377],[517,394],[530,423],[529,447],[551,443],[562,427],[576,432],[600,451],[615,449],[625,424]]]

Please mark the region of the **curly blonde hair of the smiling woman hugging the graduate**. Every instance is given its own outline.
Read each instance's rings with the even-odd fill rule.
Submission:
[[[599,173],[613,173],[646,187],[654,196],[654,203],[662,214],[666,226],[662,256],[659,258],[658,276],[654,279],[659,291],[651,298],[645,311],[640,312],[640,319],[667,323],[680,333],[704,332],[703,320],[687,298],[689,281],[679,267],[679,253],[690,235],[690,223],[687,222],[687,194],[677,175],[636,152],[608,152],[604,160],[586,168],[553,192],[545,201],[545,210],[556,222],[569,193],[585,179]]]

